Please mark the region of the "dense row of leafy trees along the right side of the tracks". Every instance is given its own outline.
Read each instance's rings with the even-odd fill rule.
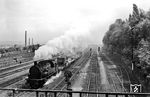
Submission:
[[[150,64],[150,10],[145,12],[133,4],[126,20],[116,19],[109,26],[103,44],[110,54],[119,54],[141,66]]]

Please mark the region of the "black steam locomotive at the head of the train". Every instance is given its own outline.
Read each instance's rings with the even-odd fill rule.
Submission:
[[[52,60],[35,61],[34,66],[29,69],[27,83],[32,89],[40,88],[48,78],[57,72],[57,65]]]

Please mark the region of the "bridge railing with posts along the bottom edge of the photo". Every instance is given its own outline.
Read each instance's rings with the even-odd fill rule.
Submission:
[[[5,93],[5,94],[4,94]],[[0,97],[22,97],[26,93],[33,93],[30,97],[150,97],[150,93],[108,93],[89,91],[59,91],[39,89],[0,89]],[[19,95],[22,96],[19,96]],[[5,95],[5,96],[4,96]],[[28,97],[28,96],[23,96]]]

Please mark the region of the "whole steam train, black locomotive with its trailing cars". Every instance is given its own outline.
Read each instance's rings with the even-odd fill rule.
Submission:
[[[51,76],[69,68],[79,57],[80,56],[76,58],[57,57],[55,59],[34,61],[34,65],[29,69],[26,84],[28,84],[31,89],[43,87]]]

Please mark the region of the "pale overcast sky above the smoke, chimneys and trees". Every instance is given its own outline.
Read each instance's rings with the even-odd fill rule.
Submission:
[[[24,43],[27,30],[34,43],[46,43],[78,25],[88,29],[93,43],[101,43],[115,19],[132,13],[133,3],[150,9],[150,0],[0,0],[0,41]]]

